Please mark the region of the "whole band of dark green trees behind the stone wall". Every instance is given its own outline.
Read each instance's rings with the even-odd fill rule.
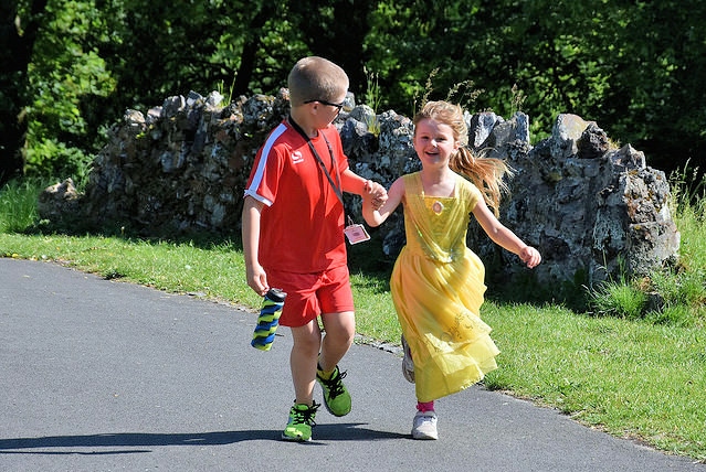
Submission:
[[[274,94],[307,54],[403,115],[426,97],[521,106],[541,138],[576,112],[654,167],[699,164],[705,17],[700,0],[8,0],[0,180],[78,172],[126,108],[190,89]]]

